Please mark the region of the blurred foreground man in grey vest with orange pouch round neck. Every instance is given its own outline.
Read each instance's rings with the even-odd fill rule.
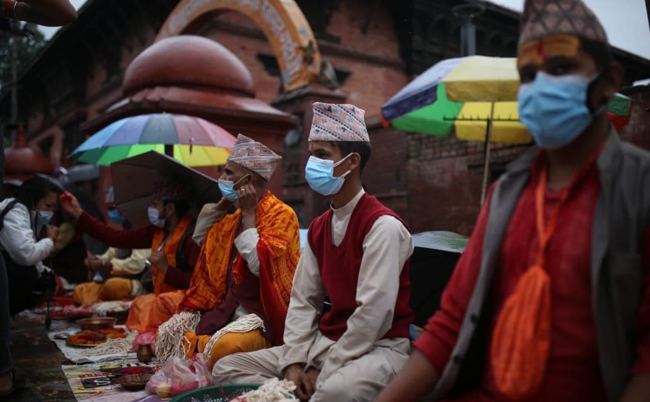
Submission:
[[[621,67],[579,0],[525,2],[517,66],[538,148],[491,188],[376,402],[649,400],[650,155],[604,113]]]

